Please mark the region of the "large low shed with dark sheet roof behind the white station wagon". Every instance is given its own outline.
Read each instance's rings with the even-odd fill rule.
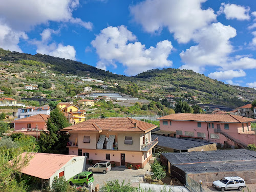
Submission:
[[[185,184],[186,175],[202,186],[224,177],[239,176],[247,184],[256,183],[256,152],[245,149],[190,153],[163,153],[161,162],[168,172]]]

